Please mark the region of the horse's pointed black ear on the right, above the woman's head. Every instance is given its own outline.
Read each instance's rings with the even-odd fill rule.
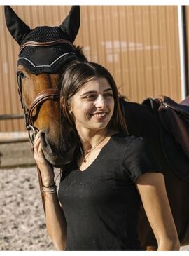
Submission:
[[[69,11],[69,15],[65,18],[62,24],[59,26],[63,32],[69,35],[71,43],[76,38],[78,34],[78,29],[80,26],[80,7],[79,6],[72,6],[71,10]]]

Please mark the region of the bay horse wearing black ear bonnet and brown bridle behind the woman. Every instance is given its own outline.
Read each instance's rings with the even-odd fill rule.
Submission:
[[[59,81],[63,70],[72,62],[78,59],[87,61],[79,48],[73,46],[80,25],[79,6],[72,6],[59,27],[30,29],[10,6],[5,6],[5,17],[10,34],[20,45],[18,91],[31,144],[34,135],[42,130],[45,159],[52,166],[61,167],[73,156],[74,134],[64,123],[65,135],[68,136],[60,143]],[[162,126],[158,114],[148,104],[127,102],[122,97],[120,102],[129,133],[145,137],[160,163],[180,243],[188,245],[189,184],[187,178],[176,173],[167,161],[161,143]],[[168,136],[166,132],[163,134]],[[157,248],[157,241],[142,206],[139,214],[139,240],[142,250]]]

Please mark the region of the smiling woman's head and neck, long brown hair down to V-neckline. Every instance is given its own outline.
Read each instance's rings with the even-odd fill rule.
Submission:
[[[70,123],[75,131],[78,139],[76,151],[78,155],[81,154],[80,169],[85,168],[93,159],[91,151],[98,154],[106,144],[108,135],[118,130],[127,133],[116,83],[101,65],[75,62],[62,76],[60,95],[62,123]]]

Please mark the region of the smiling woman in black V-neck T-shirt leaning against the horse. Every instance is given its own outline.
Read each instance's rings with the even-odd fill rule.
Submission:
[[[141,250],[137,222],[142,201],[158,250],[179,250],[164,177],[145,140],[127,135],[111,74],[92,62],[74,63],[64,72],[61,107],[63,123],[77,139],[58,196],[40,133],[34,142],[55,248]]]

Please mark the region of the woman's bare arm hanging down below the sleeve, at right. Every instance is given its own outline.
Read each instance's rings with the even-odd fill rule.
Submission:
[[[158,250],[179,250],[179,237],[167,198],[164,176],[162,173],[146,173],[137,179],[136,185],[158,241]]]

